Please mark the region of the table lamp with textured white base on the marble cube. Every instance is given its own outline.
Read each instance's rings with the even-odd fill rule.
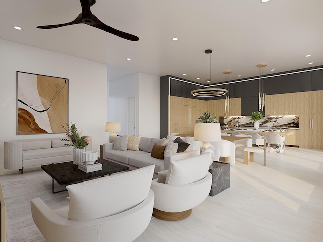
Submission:
[[[210,142],[221,140],[220,123],[196,123],[194,140],[203,141],[200,154],[211,153],[210,164],[214,161],[214,147]]]

